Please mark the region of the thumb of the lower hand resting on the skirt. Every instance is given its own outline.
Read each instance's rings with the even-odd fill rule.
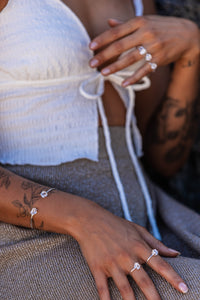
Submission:
[[[160,255],[169,256],[169,257],[176,257],[180,255],[180,252],[177,250],[171,249],[166,247],[163,243],[157,240],[154,236],[152,236],[144,227],[137,226],[138,231],[140,232],[142,238],[147,242],[147,244],[152,249],[157,249]]]

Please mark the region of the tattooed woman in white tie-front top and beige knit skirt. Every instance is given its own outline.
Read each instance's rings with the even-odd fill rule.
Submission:
[[[145,12],[153,13],[153,3],[146,2]],[[186,20],[134,18],[134,12],[141,14],[142,2],[133,7],[128,0],[4,1],[1,299],[199,295],[199,260],[175,258],[178,251],[144,228],[149,221],[159,237],[155,202],[152,207],[130,134],[132,125],[140,153],[132,109],[134,91],[146,88],[138,92],[136,115],[147,160],[170,175],[186,159],[199,70],[198,29]],[[144,76],[171,62],[171,79],[167,67],[160,68],[149,88]],[[118,93],[109,82],[104,91],[105,79]],[[105,141],[102,129],[97,132],[97,106]],[[159,195],[165,221],[180,233],[177,238],[164,226],[163,239],[175,237],[184,254],[197,255],[199,216],[149,187],[154,200]],[[186,218],[195,221],[188,231],[182,228]]]

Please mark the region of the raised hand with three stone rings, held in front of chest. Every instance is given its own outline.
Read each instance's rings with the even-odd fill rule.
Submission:
[[[108,22],[112,28],[97,36],[89,45],[91,50],[100,50],[90,60],[92,68],[103,66],[101,73],[107,76],[145,57],[146,54],[141,54],[138,47],[142,46],[150,54],[150,61],[145,61],[123,82],[123,86],[134,84],[157,66],[177,60],[183,65],[193,64],[199,51],[198,27],[186,19],[150,15],[125,23],[113,19]],[[121,56],[127,50],[130,51]]]

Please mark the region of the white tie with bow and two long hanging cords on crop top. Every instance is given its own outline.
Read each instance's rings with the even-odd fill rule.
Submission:
[[[109,161],[110,161],[110,165],[111,165],[111,169],[112,169],[112,173],[113,173],[113,177],[115,179],[115,183],[119,192],[119,196],[120,196],[120,200],[121,200],[121,204],[122,204],[122,209],[124,212],[124,217],[129,220],[132,221],[130,212],[129,212],[129,208],[128,208],[128,203],[127,203],[127,199],[126,199],[126,195],[125,195],[125,191],[124,191],[124,187],[117,169],[117,163],[114,157],[114,153],[112,150],[112,146],[111,146],[111,136],[110,136],[110,131],[109,131],[109,126],[108,126],[108,122],[107,122],[107,118],[106,118],[106,114],[104,111],[104,107],[103,107],[103,103],[102,103],[102,95],[104,93],[104,82],[106,80],[110,81],[113,84],[117,84],[118,86],[121,86],[124,77],[128,77],[132,75],[132,72],[130,71],[120,71],[117,72],[115,74],[111,74],[109,76],[104,77],[101,73],[97,72],[97,73],[93,73],[89,78],[87,78],[86,80],[84,80],[81,85],[80,85],[80,93],[83,97],[85,97],[86,99],[89,100],[97,100],[97,104],[98,104],[98,109],[99,109],[99,113],[101,116],[101,120],[102,120],[102,125],[103,125],[103,131],[104,131],[104,136],[105,136],[105,143],[106,143],[106,149],[107,149],[107,153],[108,153],[108,157],[109,157]],[[141,167],[139,165],[139,162],[137,160],[134,148],[133,148],[133,143],[132,143],[132,138],[131,138],[131,125],[132,125],[132,130],[133,130],[133,139],[134,139],[134,145],[136,147],[136,152],[138,154],[141,154],[142,152],[142,137],[141,134],[139,132],[139,129],[137,127],[137,123],[136,123],[136,117],[133,114],[133,110],[134,110],[134,106],[135,106],[135,91],[141,91],[144,89],[147,89],[150,87],[150,80],[147,77],[144,77],[142,79],[142,83],[141,84],[134,84],[132,86],[128,86],[126,89],[128,90],[128,94],[129,94],[129,103],[127,105],[127,112],[126,112],[126,125],[125,125],[125,134],[126,134],[126,143],[127,143],[127,148],[132,160],[132,163],[135,167],[135,172],[137,174],[138,177],[138,181],[140,183],[140,186],[142,188],[143,191],[143,195],[144,195],[144,199],[146,202],[146,208],[147,208],[147,215],[149,218],[149,222],[151,224],[152,227],[152,232],[153,235],[157,238],[157,239],[161,239],[157,224],[156,224],[156,220],[154,217],[154,213],[153,213],[153,207],[152,207],[152,200],[144,179],[144,176],[142,174],[142,170]],[[96,85],[96,92],[91,92],[89,91],[89,87],[90,85],[94,88],[94,86]]]

